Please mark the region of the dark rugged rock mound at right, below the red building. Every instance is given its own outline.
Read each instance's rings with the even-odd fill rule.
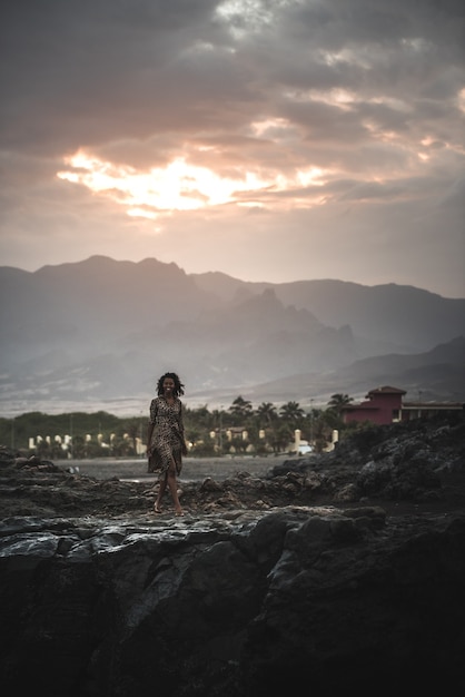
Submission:
[[[313,477],[333,502],[370,498],[465,504],[465,421],[414,421],[355,432],[330,453],[287,460],[271,477]]]

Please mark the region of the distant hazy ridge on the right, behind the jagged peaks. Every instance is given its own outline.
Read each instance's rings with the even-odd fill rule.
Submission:
[[[350,325],[365,355],[365,346],[374,354],[389,347],[410,353],[465,335],[465,300],[444,298],[413,286],[363,286],[333,279],[244,283],[218,273],[195,277],[197,285],[225,301],[273,287],[285,305],[305,308],[334,327]]]

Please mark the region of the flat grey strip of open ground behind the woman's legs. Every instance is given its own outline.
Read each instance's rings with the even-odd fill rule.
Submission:
[[[235,472],[264,475],[276,464],[280,464],[290,455],[269,455],[268,458],[184,458],[180,480],[197,481],[207,477],[221,480]],[[147,472],[146,458],[113,459],[96,458],[93,460],[57,461],[59,467],[73,470],[76,473],[96,479],[111,479],[117,477],[125,480],[154,481],[154,474]]]

